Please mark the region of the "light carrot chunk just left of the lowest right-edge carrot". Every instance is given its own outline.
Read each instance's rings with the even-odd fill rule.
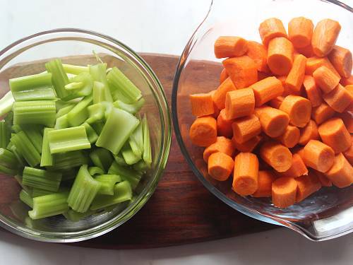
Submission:
[[[321,143],[321,141],[310,140],[304,146],[304,163],[319,172],[326,172],[332,167],[335,152],[333,148]]]

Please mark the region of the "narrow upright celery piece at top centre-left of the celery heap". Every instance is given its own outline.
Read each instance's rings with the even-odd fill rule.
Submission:
[[[55,88],[56,95],[58,95],[59,98],[66,98],[69,95],[68,91],[65,89],[65,86],[68,84],[68,77],[61,64],[61,59],[48,61],[47,64],[45,64],[45,68],[49,73],[52,73],[52,84]]]

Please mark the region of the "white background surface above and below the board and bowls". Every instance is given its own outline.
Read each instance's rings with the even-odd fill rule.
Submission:
[[[352,0],[346,2],[353,4]],[[0,0],[0,49],[42,30],[70,27],[111,35],[139,52],[181,54],[207,13],[208,3],[208,0]],[[141,250],[84,249],[33,242],[0,232],[1,265],[352,262],[352,235],[316,243],[285,228],[195,245]]]

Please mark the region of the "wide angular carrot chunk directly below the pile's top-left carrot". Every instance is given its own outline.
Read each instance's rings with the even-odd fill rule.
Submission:
[[[228,58],[222,64],[237,88],[247,88],[258,81],[256,64],[248,56]]]

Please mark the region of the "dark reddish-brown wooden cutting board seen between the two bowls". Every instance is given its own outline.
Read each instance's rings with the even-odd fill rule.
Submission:
[[[142,54],[162,82],[171,105],[179,57]],[[127,223],[78,243],[80,247],[140,249],[217,240],[276,228],[230,208],[203,187],[181,155],[174,132],[164,175],[155,193]]]

